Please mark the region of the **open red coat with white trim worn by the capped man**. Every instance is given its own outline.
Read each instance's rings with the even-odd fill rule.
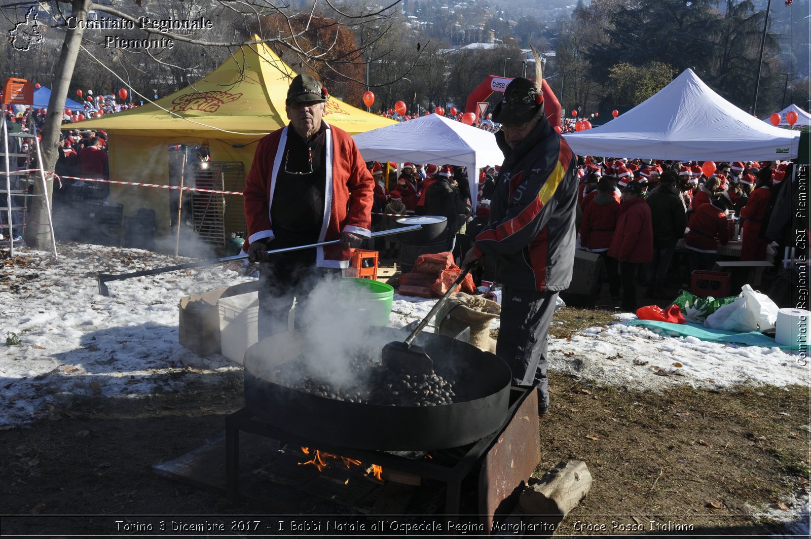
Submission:
[[[324,122],[326,123],[326,122]],[[284,159],[287,142],[284,127],[265,136],[256,146],[251,172],[242,192],[248,239],[242,245],[247,252],[252,241],[273,238],[270,209],[279,166]],[[352,137],[345,131],[327,124],[324,144],[326,158],[326,189],[324,192],[324,222],[319,242],[340,239],[341,232],[371,235],[371,205],[375,183],[363,162],[363,157]],[[316,265],[324,268],[347,268],[351,254],[342,251],[340,244],[318,248]]]

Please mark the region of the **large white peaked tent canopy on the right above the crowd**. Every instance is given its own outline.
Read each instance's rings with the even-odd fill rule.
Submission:
[[[625,114],[564,138],[579,155],[773,161],[796,157],[800,133],[745,113],[687,69]]]

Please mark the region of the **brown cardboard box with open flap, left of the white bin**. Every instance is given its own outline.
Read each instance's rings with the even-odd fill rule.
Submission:
[[[258,290],[258,281],[242,282],[233,287],[182,298],[179,309],[178,341],[183,347],[187,347],[198,356],[221,353],[220,309],[217,307],[217,302],[221,297],[247,294]]]

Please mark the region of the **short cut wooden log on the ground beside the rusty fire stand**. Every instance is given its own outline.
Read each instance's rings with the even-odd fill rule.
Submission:
[[[560,463],[541,481],[521,493],[518,504],[524,515],[530,516],[530,524],[538,524],[542,530],[554,529],[569,514],[591,489],[591,472],[582,460]]]

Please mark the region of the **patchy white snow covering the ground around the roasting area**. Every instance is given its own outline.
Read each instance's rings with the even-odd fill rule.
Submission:
[[[56,261],[48,252],[18,254],[32,260],[0,267],[0,343],[19,341],[0,347],[0,429],[47,417],[56,403],[71,395],[139,397],[181,390],[189,376],[216,382],[218,375],[241,369],[223,356],[199,357],[180,346],[178,302],[250,278],[215,265],[109,282],[110,295],[105,297],[98,293],[99,273],[129,273],[182,261],[95,245],[72,248]],[[389,326],[421,319],[435,302],[395,295]],[[609,326],[570,339],[551,338],[550,369],[632,390],[811,382],[809,366],[778,347],[665,336],[625,326],[623,321],[632,317],[620,315]],[[498,327],[497,320],[493,327]],[[808,515],[808,498],[793,500],[793,507],[800,510],[795,515]],[[808,533],[807,516],[799,526]]]

